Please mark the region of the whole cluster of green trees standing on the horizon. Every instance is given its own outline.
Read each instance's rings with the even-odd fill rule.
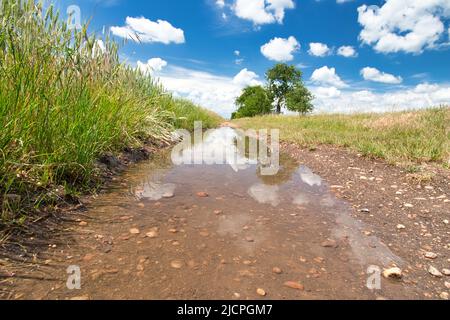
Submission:
[[[306,114],[314,109],[313,95],[305,87],[302,72],[295,66],[279,63],[266,72],[265,86],[248,86],[236,99],[238,110],[232,119],[281,113],[282,108]]]

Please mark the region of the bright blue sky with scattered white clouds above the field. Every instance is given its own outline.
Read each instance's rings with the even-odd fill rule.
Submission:
[[[124,61],[224,116],[277,62],[303,71],[317,112],[450,103],[448,0],[56,3],[64,13],[79,6],[90,32],[129,38]]]

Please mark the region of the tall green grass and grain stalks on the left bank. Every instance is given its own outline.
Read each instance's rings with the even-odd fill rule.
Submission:
[[[0,1],[0,228],[92,185],[105,152],[220,118],[120,63],[118,45],[68,30],[52,7]]]

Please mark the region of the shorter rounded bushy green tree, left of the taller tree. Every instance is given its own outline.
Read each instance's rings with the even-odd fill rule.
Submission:
[[[272,111],[272,101],[267,90],[261,86],[246,87],[241,96],[236,99],[239,109],[232,118],[246,118],[267,114]]]

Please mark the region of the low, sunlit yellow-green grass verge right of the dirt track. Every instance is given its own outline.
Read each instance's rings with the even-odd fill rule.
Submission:
[[[330,144],[391,163],[450,161],[450,108],[355,115],[263,116],[235,121],[243,128],[280,129],[305,147]]]

